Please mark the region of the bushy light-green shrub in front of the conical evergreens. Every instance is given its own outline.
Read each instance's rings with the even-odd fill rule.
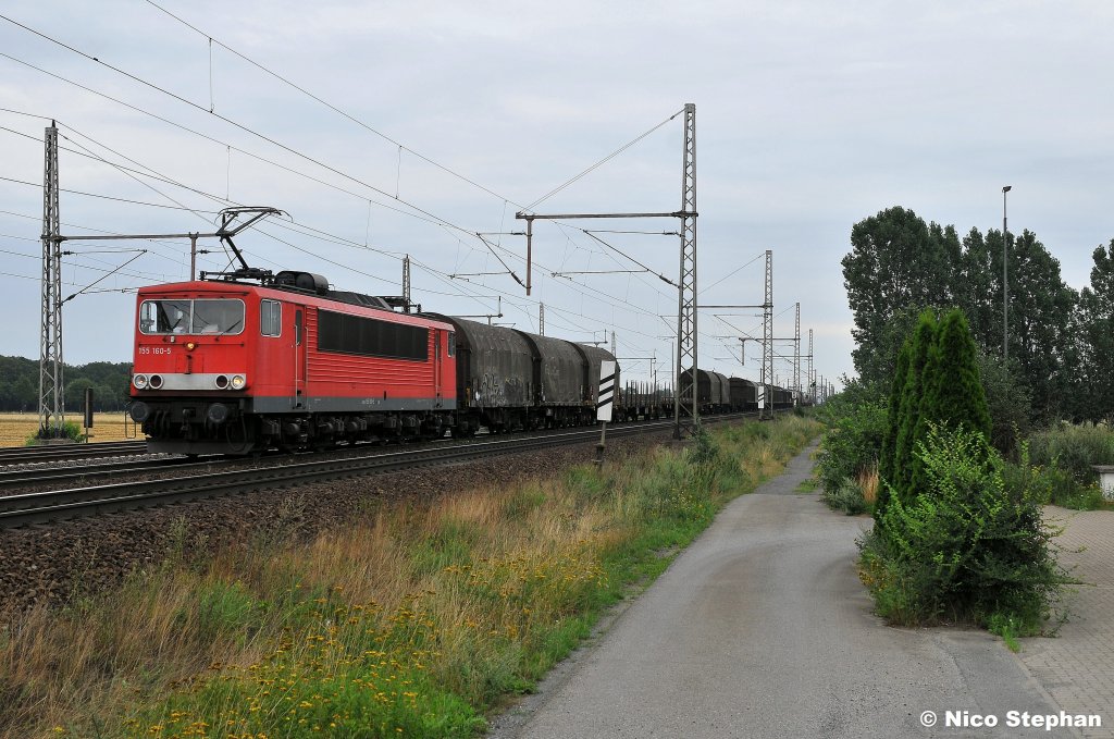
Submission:
[[[1066,573],[1040,500],[1009,489],[980,432],[930,427],[916,454],[928,486],[892,496],[881,526],[860,541],[860,574],[893,623],[1016,624],[1035,633]]]

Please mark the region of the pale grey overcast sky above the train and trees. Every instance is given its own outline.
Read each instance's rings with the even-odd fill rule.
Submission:
[[[802,354],[812,329],[818,375],[833,381],[853,373],[840,259],[857,221],[901,205],[960,233],[1000,228],[1008,184],[1010,230],[1034,231],[1076,289],[1114,237],[1104,0],[157,1],[197,30],[145,0],[2,4],[28,27],[0,20],[2,354],[39,352],[50,118],[61,186],[78,191],[61,194],[63,234],[205,231],[227,202],[275,206],[291,222],[237,239],[255,266],[399,294],[410,254],[424,309],[482,315],[501,296],[498,322],[537,331],[540,301],[547,336],[614,330],[631,379],[648,376],[644,358],[668,372],[677,299],[655,273],[677,279],[680,242],[597,233],[653,271],[635,273],[582,228],[673,232],[675,220],[538,222],[529,298],[508,274],[448,275],[504,270],[472,234],[521,231],[524,206],[678,210],[682,117],[668,119],[686,103],[700,302],[761,303],[773,250],[774,333],[793,336],[800,302]],[[525,240],[488,239],[525,280]],[[147,250],[65,308],[67,362],[130,360],[134,293],[92,291],[186,279],[188,243],[66,247],[67,295]],[[201,269],[223,269],[207,247]],[[698,321],[703,367],[758,378],[756,343],[739,361],[739,337],[761,337],[755,311]],[[792,344],[776,351],[791,358]],[[775,375],[790,385],[791,361]]]

